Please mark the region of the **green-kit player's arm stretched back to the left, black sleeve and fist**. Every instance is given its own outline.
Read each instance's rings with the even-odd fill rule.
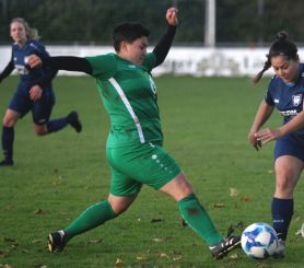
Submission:
[[[39,68],[42,65],[48,66],[56,70],[79,71],[92,74],[92,67],[85,58],[59,56],[40,58],[37,55],[28,57],[28,65],[31,68]]]

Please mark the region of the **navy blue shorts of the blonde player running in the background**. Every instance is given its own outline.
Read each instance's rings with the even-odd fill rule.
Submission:
[[[33,121],[36,125],[45,125],[49,120],[54,104],[55,95],[51,86],[44,88],[42,97],[33,102],[26,84],[21,82],[11,98],[9,108],[17,112],[21,118],[32,110]]]

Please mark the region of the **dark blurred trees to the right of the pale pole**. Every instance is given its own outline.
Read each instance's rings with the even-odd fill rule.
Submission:
[[[304,40],[302,25],[299,23],[304,8],[302,0],[217,0],[217,4],[218,44],[267,45],[282,30],[295,42]]]

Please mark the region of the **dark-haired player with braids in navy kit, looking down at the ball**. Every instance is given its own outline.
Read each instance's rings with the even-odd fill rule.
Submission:
[[[248,140],[257,150],[262,144],[277,140],[276,191],[271,213],[273,229],[279,237],[276,257],[283,257],[293,214],[293,191],[304,167],[304,65],[300,62],[297,48],[285,32],[278,33],[267,55],[267,61],[254,78],[254,82],[257,83],[270,67],[276,75],[270,81],[265,100],[256,114]],[[260,130],[274,107],[283,116],[282,126]]]

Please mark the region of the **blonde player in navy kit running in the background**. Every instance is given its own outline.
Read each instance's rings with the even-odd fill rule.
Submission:
[[[38,136],[58,131],[66,126],[72,126],[77,132],[82,129],[77,112],[71,112],[67,117],[49,120],[55,95],[51,79],[57,70],[47,67],[32,70],[27,65],[27,56],[38,55],[42,58],[49,57],[44,45],[36,40],[37,31],[28,26],[21,18],[13,19],[10,24],[12,45],[12,57],[5,69],[0,74],[0,82],[16,69],[21,75],[17,89],[11,98],[3,118],[2,149],[4,160],[0,166],[13,165],[13,141],[14,125],[32,110],[35,132]]]

